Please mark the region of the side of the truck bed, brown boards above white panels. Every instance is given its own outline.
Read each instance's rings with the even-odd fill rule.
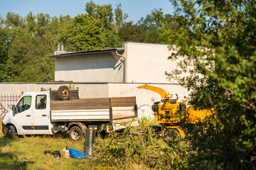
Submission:
[[[137,121],[136,97],[81,98],[73,101],[50,101],[54,121]]]

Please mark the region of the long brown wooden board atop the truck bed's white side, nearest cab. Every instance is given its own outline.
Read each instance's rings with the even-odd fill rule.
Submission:
[[[107,109],[109,98],[81,98],[73,101],[50,101],[51,111]]]

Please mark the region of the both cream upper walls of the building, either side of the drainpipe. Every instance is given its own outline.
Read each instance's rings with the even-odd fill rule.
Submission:
[[[123,47],[125,60],[114,52],[55,57],[55,81],[178,83],[166,76],[179,61],[168,60],[175,52],[169,45],[124,42]]]

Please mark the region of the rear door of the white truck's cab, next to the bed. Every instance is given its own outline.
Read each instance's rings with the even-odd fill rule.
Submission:
[[[33,134],[51,134],[49,105],[46,94],[36,94],[36,106],[33,108]]]

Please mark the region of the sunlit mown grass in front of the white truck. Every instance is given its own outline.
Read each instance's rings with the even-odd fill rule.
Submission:
[[[1,123],[1,120],[0,120]],[[97,142],[102,142],[97,137]],[[99,160],[92,159],[64,159],[60,162],[54,158],[47,158],[45,150],[60,150],[66,146],[83,152],[84,140],[73,142],[68,137],[59,136],[23,136],[10,140],[0,132],[0,169],[114,169],[114,167],[101,166]],[[34,161],[35,163],[22,164],[21,159]]]

